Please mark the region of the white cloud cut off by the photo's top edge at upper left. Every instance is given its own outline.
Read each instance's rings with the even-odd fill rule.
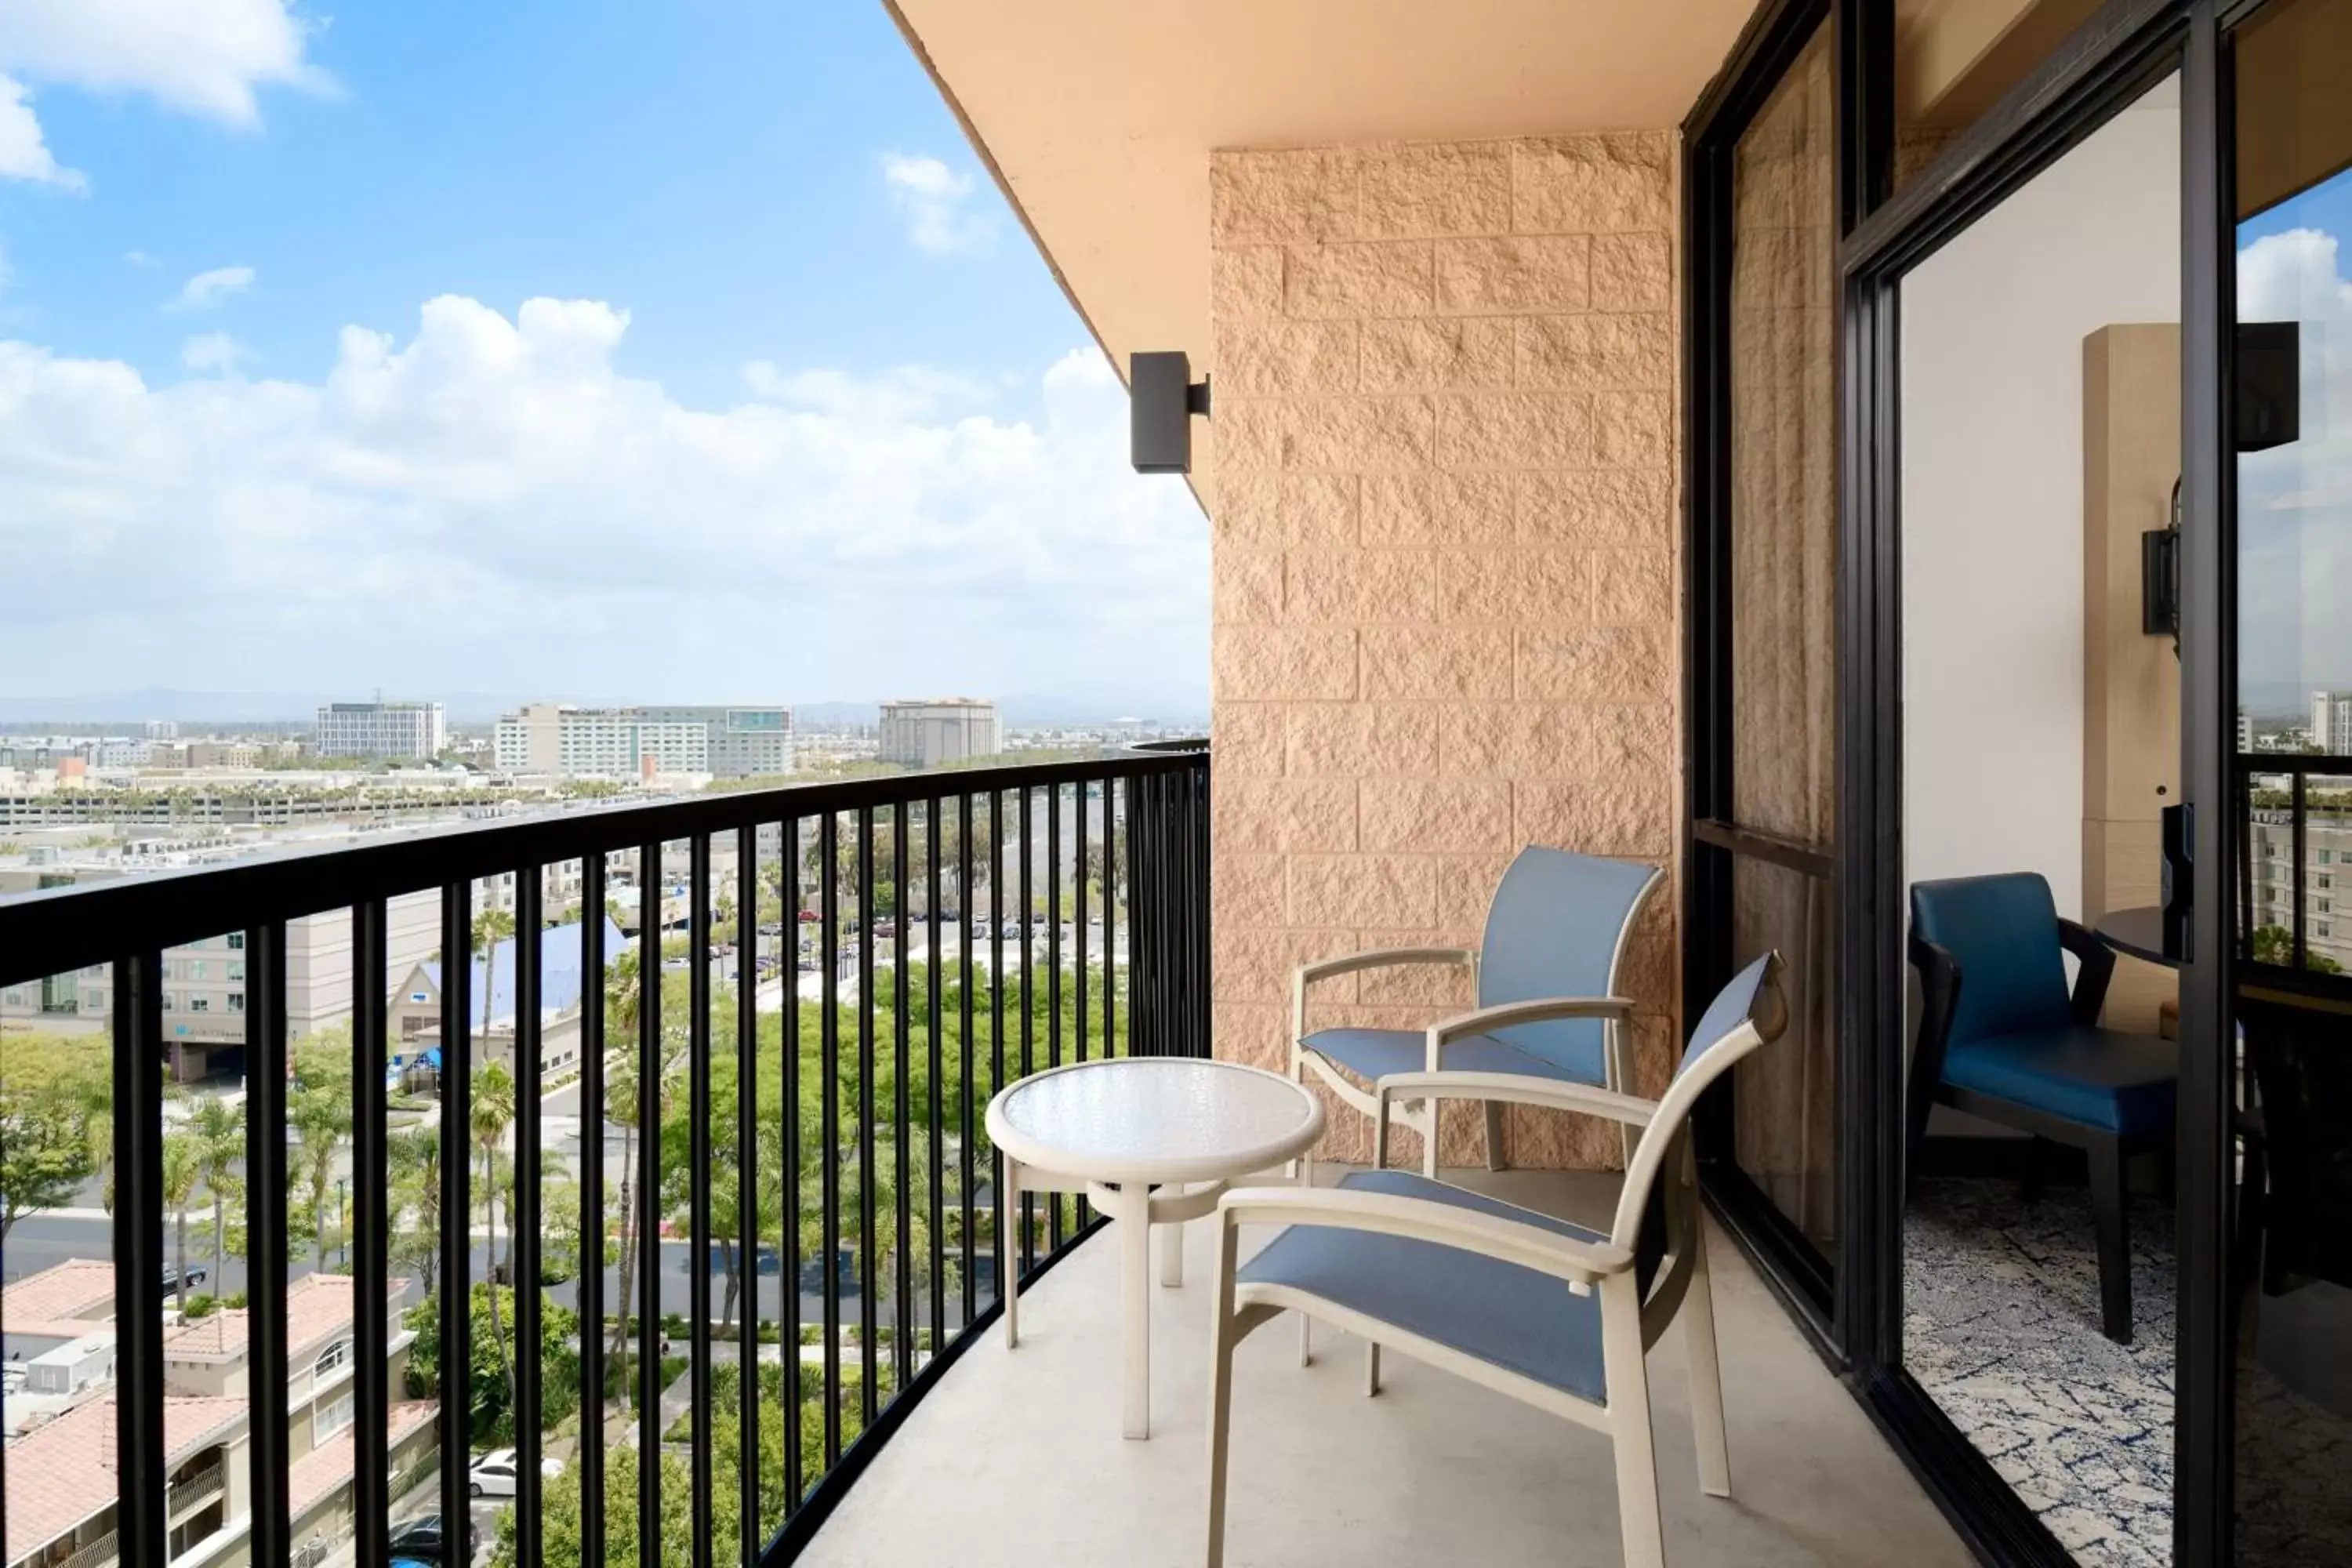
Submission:
[[[294,0],[0,0],[0,71],[252,125],[256,87],[334,89],[320,26]]]

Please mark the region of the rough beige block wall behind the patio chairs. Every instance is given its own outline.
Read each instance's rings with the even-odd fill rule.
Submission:
[[[1670,863],[1679,816],[1675,139],[1211,160],[1216,1048],[1282,1067],[1289,976],[1475,945],[1519,844]],[[1679,867],[1677,867],[1679,870]],[[1675,1041],[1670,884],[1630,959]],[[1458,976],[1317,987],[1421,1027]],[[1327,1157],[1364,1157],[1336,1110]],[[1477,1157],[1456,1107],[1446,1159]],[[1613,1128],[1512,1112],[1515,1164]],[[1404,1135],[1397,1159],[1418,1159]]]

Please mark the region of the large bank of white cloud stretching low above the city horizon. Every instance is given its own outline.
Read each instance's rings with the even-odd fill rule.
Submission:
[[[172,386],[0,341],[0,559],[45,583],[9,684],[1204,705],[1207,527],[1127,468],[1094,348],[1011,393],[767,367],[774,400],[691,407],[626,331],[445,296],[315,383]]]

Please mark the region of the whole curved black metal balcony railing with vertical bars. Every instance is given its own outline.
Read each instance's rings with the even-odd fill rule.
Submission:
[[[188,1460],[165,1443],[176,1394],[153,1305],[174,1213],[183,1227],[188,1208],[186,1178],[174,1171],[169,1208],[165,1185],[174,947],[242,933],[252,1561],[294,1556],[299,1434],[287,1401],[266,1396],[287,1387],[282,1286],[289,1269],[325,1269],[339,1234],[353,1274],[360,1568],[386,1568],[393,1490],[419,1483],[419,1462],[402,1458],[400,1476],[388,1462],[400,1335],[414,1335],[407,1394],[437,1401],[442,1521],[470,1516],[485,1432],[510,1429],[515,1505],[485,1540],[499,1561],[652,1568],[682,1540],[696,1568],[748,1568],[807,1544],[995,1319],[1007,1267],[1035,1276],[1091,1234],[1084,1204],[1063,1197],[1023,1197],[1014,1234],[997,1222],[985,1098],[1089,1053],[1207,1056],[1207,750],[1134,750],[706,792],[0,900],[0,987],[111,966],[120,1559],[169,1561],[167,1476]],[[550,867],[569,863],[576,936],[543,893]],[[506,912],[477,910],[477,891],[508,872],[510,947]],[[402,914],[416,896],[437,900],[430,926]],[[346,1067],[322,1081],[315,1041],[341,1037],[294,1039],[315,1009],[289,1013],[289,926],[339,912],[350,922],[348,1081]],[[435,952],[419,964],[421,931]],[[318,980],[315,954],[301,969]],[[437,976],[437,1100],[395,1107],[390,1053],[416,1041],[397,1037],[390,1009],[414,1004],[393,994],[409,973]],[[569,1157],[543,1128],[560,1114],[543,1098],[572,1093],[543,1079],[555,1030],[579,1048]],[[7,1074],[0,1058],[0,1086]],[[325,1152],[310,1131],[320,1098],[348,1105],[348,1143]],[[419,1124],[395,1126],[395,1110]],[[430,1150],[416,1143],[426,1133],[437,1135],[430,1178],[395,1182],[395,1145]],[[329,1206],[313,1199],[336,1159],[348,1159],[350,1218],[332,1234]],[[666,1227],[680,1213],[684,1312],[666,1314]],[[433,1288],[412,1300],[409,1279],[405,1305],[386,1312],[402,1288],[395,1251],[402,1276]],[[713,1272],[731,1298],[717,1321]],[[487,1375],[485,1307],[499,1340]],[[673,1389],[684,1401],[666,1413]],[[19,1455],[12,1446],[0,1465]],[[560,1465],[543,1474],[543,1460]]]

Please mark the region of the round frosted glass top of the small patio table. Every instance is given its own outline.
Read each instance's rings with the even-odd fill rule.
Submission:
[[[1294,1159],[1322,1103],[1291,1079],[1192,1058],[1117,1058],[1021,1079],[988,1107],[1014,1159],[1103,1180],[1204,1180]]]

